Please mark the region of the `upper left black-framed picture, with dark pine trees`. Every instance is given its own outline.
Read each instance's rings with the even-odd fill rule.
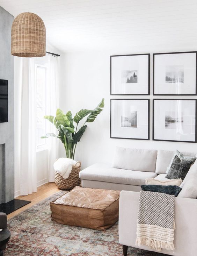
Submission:
[[[110,95],[150,94],[150,54],[110,56]]]

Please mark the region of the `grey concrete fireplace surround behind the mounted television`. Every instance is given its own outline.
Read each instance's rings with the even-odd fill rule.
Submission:
[[[0,123],[0,204],[14,199],[14,17],[0,6],[0,79],[8,80],[8,122]]]

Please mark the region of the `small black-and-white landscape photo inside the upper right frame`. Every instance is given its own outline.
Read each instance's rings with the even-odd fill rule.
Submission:
[[[166,83],[184,83],[183,65],[166,66]]]

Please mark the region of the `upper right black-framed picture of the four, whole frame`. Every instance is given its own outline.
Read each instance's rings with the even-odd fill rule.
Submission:
[[[197,52],[153,54],[153,95],[197,95]]]

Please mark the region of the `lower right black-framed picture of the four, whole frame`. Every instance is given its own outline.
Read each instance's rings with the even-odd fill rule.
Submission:
[[[153,140],[196,142],[196,99],[153,99]]]

